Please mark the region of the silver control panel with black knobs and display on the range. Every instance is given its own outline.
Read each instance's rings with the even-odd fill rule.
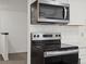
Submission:
[[[32,34],[32,40],[51,40],[51,39],[61,39],[61,34],[60,33]]]

